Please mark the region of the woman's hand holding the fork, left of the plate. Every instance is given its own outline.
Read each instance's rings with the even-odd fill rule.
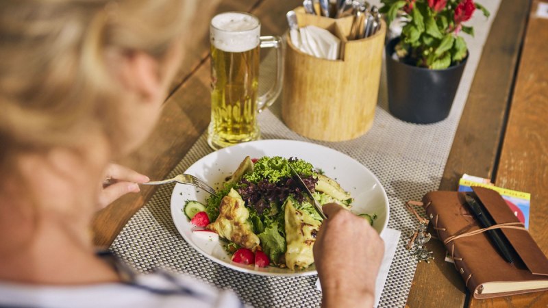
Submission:
[[[105,179],[108,179],[113,184],[103,185],[101,192],[99,193],[99,206],[106,207],[117,198],[129,193],[139,192],[138,183],[145,183],[150,181],[146,175],[120,166],[118,164],[109,164],[105,172]]]

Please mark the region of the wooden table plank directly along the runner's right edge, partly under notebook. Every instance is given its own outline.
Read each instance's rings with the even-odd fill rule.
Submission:
[[[501,1],[453,140],[440,190],[456,190],[464,173],[486,178],[493,175],[528,13],[527,1],[520,2],[521,5],[516,5],[516,1]],[[464,283],[453,264],[444,261],[445,246],[436,240],[428,246],[436,259],[434,263],[417,266],[407,306],[438,307],[443,303],[443,307],[463,307]]]

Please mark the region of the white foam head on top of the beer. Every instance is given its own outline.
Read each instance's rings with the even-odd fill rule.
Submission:
[[[210,42],[216,49],[241,53],[257,47],[261,25],[255,16],[227,12],[215,16],[210,24]]]

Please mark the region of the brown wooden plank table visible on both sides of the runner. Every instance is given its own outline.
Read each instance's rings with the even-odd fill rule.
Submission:
[[[206,130],[210,120],[207,25],[216,12],[256,14],[263,34],[286,31],[285,14],[297,0],[200,1],[195,37],[164,103],[162,120],[140,149],[119,163],[164,178]],[[440,190],[455,190],[466,172],[497,185],[532,194],[530,233],[548,254],[548,19],[536,18],[538,1],[502,0],[469,92]],[[97,214],[97,246],[108,247],[155,188],[121,198]],[[409,307],[545,307],[548,292],[475,300],[440,242],[429,244],[436,261],[421,263],[408,296]]]

